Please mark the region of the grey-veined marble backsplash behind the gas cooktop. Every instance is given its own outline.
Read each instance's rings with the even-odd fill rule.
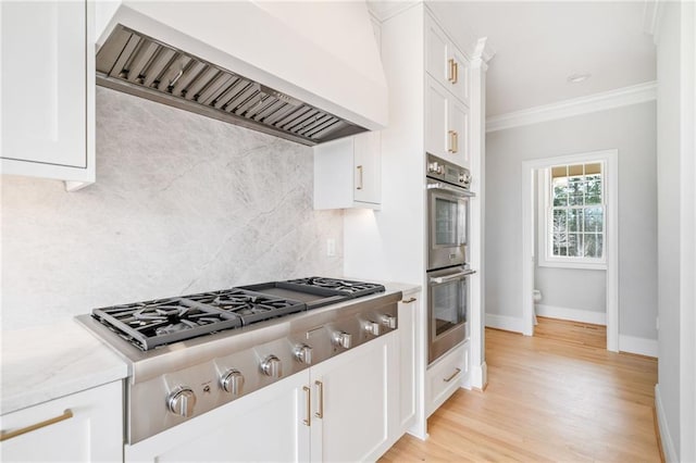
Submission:
[[[2,328],[343,271],[311,148],[97,88],[97,183],[2,177]],[[337,255],[325,255],[326,239]]]

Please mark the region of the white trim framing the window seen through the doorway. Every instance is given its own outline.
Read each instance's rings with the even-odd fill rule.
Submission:
[[[563,164],[589,164],[593,162],[601,162],[602,164],[602,207],[605,212],[605,240],[601,259],[593,258],[562,258],[551,256],[549,252],[549,240],[547,234],[548,213],[550,210],[550,182],[548,170],[550,165],[539,170],[538,188],[540,195],[537,198],[537,233],[538,233],[538,250],[537,250],[537,265],[540,267],[555,267],[555,268],[579,268],[579,270],[607,270],[607,255],[609,246],[609,229],[608,222],[612,221],[610,209],[613,209],[612,201],[616,201],[618,191],[618,176],[616,165],[616,151],[600,151],[586,154],[577,154],[572,157],[558,158],[558,163],[554,165]],[[616,224],[612,224],[616,226]]]

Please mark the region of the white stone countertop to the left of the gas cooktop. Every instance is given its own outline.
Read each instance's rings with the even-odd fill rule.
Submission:
[[[73,320],[2,331],[0,414],[123,379],[127,365]]]

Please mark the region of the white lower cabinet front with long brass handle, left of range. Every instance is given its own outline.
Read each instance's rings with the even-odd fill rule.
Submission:
[[[4,462],[123,461],[122,381],[8,413],[0,427]]]

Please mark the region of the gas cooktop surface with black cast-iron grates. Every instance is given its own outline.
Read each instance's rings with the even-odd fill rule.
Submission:
[[[147,351],[384,290],[314,276],[94,309],[92,317]]]

